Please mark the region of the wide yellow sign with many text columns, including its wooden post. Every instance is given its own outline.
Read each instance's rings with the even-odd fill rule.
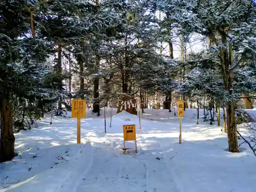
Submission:
[[[77,118],[77,143],[81,143],[81,118],[86,117],[86,100],[74,99],[71,101],[72,118]]]

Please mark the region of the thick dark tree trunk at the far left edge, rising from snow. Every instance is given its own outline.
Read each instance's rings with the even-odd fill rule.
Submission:
[[[0,162],[9,161],[14,157],[14,141],[12,120],[13,109],[9,99],[0,101],[1,110],[1,138],[0,138]]]

